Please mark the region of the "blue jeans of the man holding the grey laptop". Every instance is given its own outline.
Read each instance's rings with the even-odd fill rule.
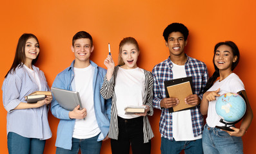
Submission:
[[[56,148],[56,153],[59,154],[77,154],[79,149],[81,153],[99,154],[101,152],[102,141],[97,141],[99,135],[89,139],[75,139],[72,138],[72,149],[66,150],[63,148]]]

